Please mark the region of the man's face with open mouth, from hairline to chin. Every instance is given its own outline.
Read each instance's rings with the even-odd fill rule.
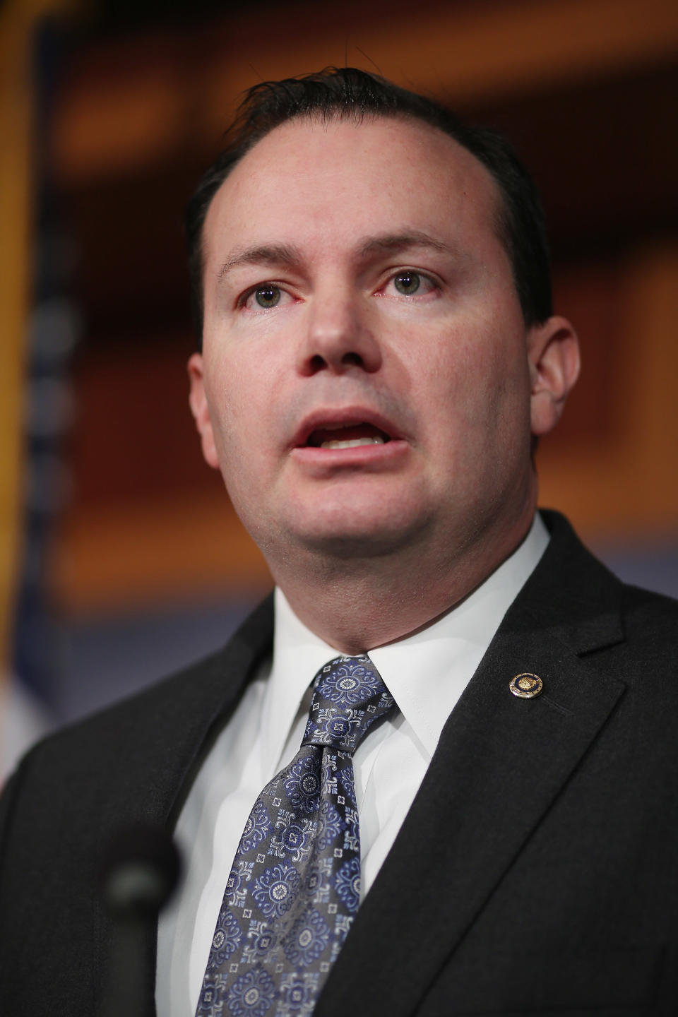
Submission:
[[[531,332],[487,173],[411,120],[276,128],[204,226],[203,452],[269,560],[463,549],[532,512]]]

